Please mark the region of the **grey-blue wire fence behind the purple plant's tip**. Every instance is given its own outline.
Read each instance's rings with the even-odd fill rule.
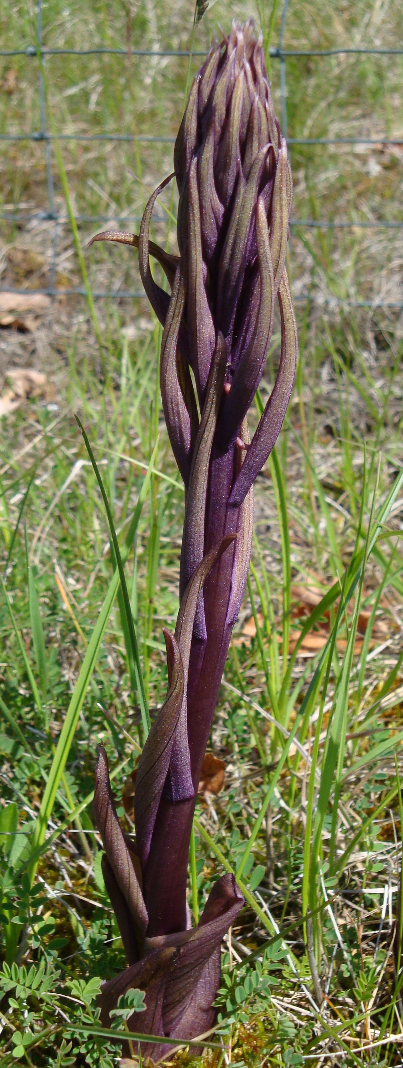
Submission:
[[[291,58],[326,58],[334,56],[403,56],[403,48],[367,48],[367,47],[352,47],[352,48],[311,48],[311,49],[295,49],[295,48],[283,48],[283,38],[285,32],[285,22],[288,14],[289,0],[284,0],[281,23],[279,31],[279,41],[277,47],[270,47],[268,53],[270,60],[277,60],[279,62],[279,83],[280,83],[280,114],[281,114],[281,126],[284,137],[289,145],[377,145],[382,147],[386,146],[401,146],[403,147],[402,137],[389,137],[387,135],[378,138],[369,137],[339,137],[339,138],[308,138],[308,137],[289,137],[288,136],[288,110],[286,110],[286,60]],[[26,57],[32,61],[45,60],[46,57],[50,56],[77,56],[77,57],[89,57],[89,56],[121,56],[122,58],[127,58],[128,49],[126,48],[47,48],[43,45],[42,34],[43,34],[43,0],[37,2],[37,15],[36,15],[36,42],[35,44],[29,44],[24,48],[11,49],[11,50],[0,50],[0,57],[11,58],[11,57]],[[155,59],[175,59],[175,58],[192,58],[192,57],[205,57],[205,50],[200,49],[148,49],[148,48],[131,48],[129,49],[130,57],[138,58],[155,58]],[[22,142],[32,141],[44,144],[45,152],[45,166],[46,166],[46,185],[47,185],[47,199],[48,208],[46,210],[37,211],[24,211],[24,210],[3,210],[0,211],[0,219],[9,222],[26,222],[27,224],[34,221],[48,221],[53,223],[53,235],[51,240],[51,261],[49,267],[49,284],[43,288],[25,288],[21,286],[14,287],[11,285],[0,285],[0,293],[17,293],[17,294],[41,294],[48,297],[62,297],[62,296],[86,296],[86,289],[82,286],[75,286],[72,288],[61,288],[56,287],[55,279],[57,272],[57,251],[58,251],[58,234],[61,224],[68,222],[67,213],[59,211],[56,207],[55,201],[55,187],[53,187],[53,176],[52,176],[52,155],[51,155],[51,144],[55,140],[58,142],[65,141],[80,141],[80,142],[141,142],[144,144],[174,144],[175,138],[165,135],[146,135],[146,134],[64,134],[58,132],[57,135],[49,134],[46,125],[46,98],[45,98],[45,84],[42,75],[41,67],[38,65],[38,114],[40,114],[40,129],[32,130],[31,132],[21,131],[18,134],[0,134],[0,141],[5,142]],[[129,223],[135,225],[141,221],[141,216],[127,215],[124,216],[118,214],[114,215],[80,215],[75,216],[77,222],[84,222],[88,224],[98,224],[98,223],[112,223],[119,225],[124,223],[127,229]],[[161,221],[162,217],[154,215],[156,221]],[[403,222],[400,220],[328,220],[328,219],[291,219],[291,229],[296,232],[303,230],[401,230],[403,227]],[[92,293],[93,297],[97,300],[100,299],[141,299],[144,297],[143,292],[137,292],[135,289],[121,289],[115,290],[105,290],[105,289],[94,289]],[[297,302],[305,302],[308,299],[308,295],[296,296],[294,299]],[[342,303],[343,307],[350,308],[362,308],[362,309],[403,309],[403,301],[383,301],[383,300],[341,300],[335,296],[322,297],[321,303],[328,307],[337,307]]]

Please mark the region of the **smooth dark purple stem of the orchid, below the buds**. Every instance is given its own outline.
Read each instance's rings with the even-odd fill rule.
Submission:
[[[236,453],[213,454],[211,460],[204,551],[236,530],[238,509],[228,504],[235,478]],[[143,871],[149,912],[148,937],[186,928],[186,883],[191,824],[200,772],[217,704],[232,625],[227,623],[233,549],[220,557],[204,585],[207,638],[192,638],[187,686],[187,722],[195,798],[174,802],[162,797]],[[246,576],[245,576],[246,581]],[[181,594],[183,591],[181,592]]]

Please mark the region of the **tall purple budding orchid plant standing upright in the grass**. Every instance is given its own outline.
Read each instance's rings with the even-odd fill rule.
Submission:
[[[172,255],[149,238],[161,189],[179,188]],[[138,249],[142,283],[162,325],[160,390],[185,486],[180,612],[165,630],[166,701],[136,780],[136,839],[121,828],[99,747],[94,814],[103,871],[127,968],[103,986],[102,1020],[121,994],[145,994],[144,1034],[190,1039],[214,1023],[220,943],[244,899],[235,879],[216,882],[197,927],[186,902],[188,850],[201,767],[232,628],[248,575],[253,482],[290,399],[297,335],[285,269],[292,208],[288,151],[275,116],[261,37],[233,23],[197,74],[174,148],[174,174],[155,189],[140,233],[106,232]],[[155,282],[153,256],[171,293]],[[277,378],[250,440],[247,415],[281,319]],[[129,1020],[129,1025],[133,1017]],[[172,1046],[143,1043],[160,1059]]]

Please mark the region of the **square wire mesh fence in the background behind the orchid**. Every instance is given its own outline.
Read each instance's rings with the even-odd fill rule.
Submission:
[[[288,109],[288,64],[290,62],[309,62],[313,59],[321,60],[322,63],[326,63],[330,58],[345,58],[345,57],[357,57],[357,58],[372,58],[372,57],[383,57],[399,58],[403,56],[403,48],[401,47],[335,47],[335,48],[291,48],[284,47],[284,33],[288,16],[288,0],[284,0],[281,22],[279,29],[278,42],[275,47],[268,49],[269,61],[274,65],[278,65],[278,82],[279,82],[279,105],[280,105],[280,122],[283,132],[286,137],[288,144],[290,146],[291,153],[295,148],[304,148],[306,152],[311,151],[312,153],[320,148],[323,152],[327,150],[347,150],[348,147],[354,152],[362,153],[371,151],[374,147],[378,152],[390,152],[391,150],[397,150],[400,154],[403,150],[403,136],[397,132],[382,131],[381,135],[372,137],[370,134],[366,136],[365,131],[357,130],[356,134],[352,136],[297,136],[291,129],[289,123],[289,109]],[[0,141],[12,145],[13,143],[32,143],[38,145],[44,154],[44,164],[46,174],[46,205],[42,204],[36,208],[26,209],[20,204],[7,204],[2,207],[0,211],[0,219],[4,223],[15,224],[17,227],[29,227],[36,222],[48,223],[51,226],[51,233],[47,232],[47,240],[49,242],[50,249],[50,260],[47,283],[44,286],[37,286],[36,288],[29,288],[29,293],[45,294],[49,297],[60,297],[60,296],[80,296],[86,295],[86,289],[80,284],[74,285],[60,285],[60,282],[56,284],[57,269],[58,269],[58,242],[60,237],[61,227],[66,225],[67,213],[65,206],[61,202],[60,197],[56,195],[55,190],[55,176],[56,176],[56,162],[53,157],[53,146],[57,140],[61,144],[68,143],[69,145],[86,144],[88,146],[103,143],[107,146],[119,146],[119,145],[130,145],[138,150],[139,145],[144,147],[151,146],[157,150],[157,146],[167,146],[170,148],[174,143],[174,136],[171,131],[166,132],[164,129],[157,129],[146,132],[141,132],[136,130],[93,130],[82,131],[81,129],[63,130],[52,127],[49,129],[48,126],[48,115],[47,115],[47,104],[46,104],[46,87],[43,77],[42,63],[50,57],[65,58],[65,57],[76,57],[77,61],[80,63],[86,62],[86,59],[90,57],[115,57],[117,59],[122,58],[123,61],[127,61],[129,54],[129,60],[131,64],[133,77],[136,78],[136,67],[135,64],[144,64],[146,61],[160,63],[162,60],[165,63],[169,64],[179,59],[184,59],[189,63],[195,59],[200,62],[200,58],[205,54],[203,49],[181,49],[181,48],[137,48],[127,47],[87,47],[87,48],[73,48],[73,47],[48,47],[43,43],[43,4],[42,0],[38,0],[36,9],[36,26],[34,40],[25,45],[24,47],[18,47],[14,49],[4,49],[0,51],[0,57],[4,60],[11,59],[13,57],[19,57],[24,59],[27,63],[33,64],[36,72],[36,84],[37,84],[37,101],[36,101],[36,116],[38,120],[36,128],[31,130],[27,129],[11,129],[6,128],[0,132]],[[41,63],[42,61],[42,63]],[[326,79],[326,73],[324,69],[323,74],[324,83]],[[294,79],[295,80],[295,79]],[[51,78],[49,78],[49,89],[51,91]],[[304,84],[300,83],[300,89],[303,91]],[[11,116],[13,115],[13,109],[10,109]],[[171,151],[171,148],[170,148]],[[389,217],[388,218],[374,218],[373,211],[371,218],[362,218],[362,213],[357,215],[356,211],[352,213],[352,217],[340,218],[340,217],[304,217],[300,218],[298,214],[294,214],[291,220],[291,227],[293,234],[299,238],[307,247],[307,241],[304,238],[304,233],[309,232],[351,232],[355,235],[358,232],[377,232],[385,234],[387,232],[401,232],[403,227],[403,219],[401,213],[397,213],[400,217]],[[134,226],[138,225],[140,214],[127,214],[119,213],[117,210],[110,210],[109,213],[86,213],[79,209],[75,211],[75,218],[79,226],[95,229],[99,224],[104,225],[114,225],[119,226],[124,223],[125,229],[133,223]],[[161,221],[162,216],[156,216],[156,220]],[[337,287],[336,287],[337,288]],[[11,284],[1,284],[0,292],[6,289],[7,292],[26,292],[24,284],[13,286]],[[141,299],[143,294],[139,288],[127,287],[127,285],[122,285],[120,281],[114,287],[104,286],[98,287],[96,284],[93,286],[93,296],[96,299],[100,298],[114,298],[114,299]],[[295,299],[297,302],[304,302],[307,299],[307,286],[303,292],[298,292],[298,286],[296,286]],[[382,295],[374,295],[369,298],[367,294],[360,295],[344,295],[338,296],[337,292],[331,294],[321,295],[321,302],[335,304],[343,303],[348,307],[357,308],[386,308],[401,310],[403,308],[403,299],[388,299],[388,297],[383,297]]]

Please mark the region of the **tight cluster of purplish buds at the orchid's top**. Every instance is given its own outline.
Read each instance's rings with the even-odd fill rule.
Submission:
[[[224,450],[238,436],[263,372],[292,208],[286,145],[251,19],[244,27],[233,23],[196,76],[174,167],[185,319],[199,397],[219,332],[227,347],[216,436]],[[286,283],[282,288],[291,318]]]

